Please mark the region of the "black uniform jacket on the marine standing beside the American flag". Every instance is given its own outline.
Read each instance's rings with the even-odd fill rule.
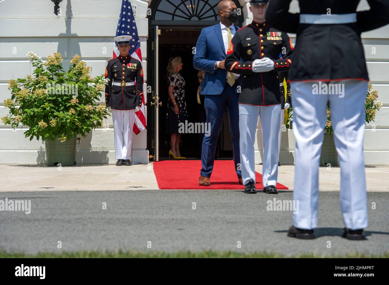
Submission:
[[[105,104],[111,109],[131,110],[142,105],[143,69],[139,60],[130,55],[109,60],[105,69],[105,78],[109,78],[109,83],[105,87]],[[135,81],[135,85],[112,85],[112,82],[133,81]]]

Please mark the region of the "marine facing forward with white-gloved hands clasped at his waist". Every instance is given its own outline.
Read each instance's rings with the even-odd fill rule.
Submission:
[[[266,9],[268,2],[250,1],[254,20],[235,33],[225,61],[228,71],[243,76],[238,103],[240,163],[245,193],[256,193],[254,141],[258,116],[263,142],[263,192],[278,193],[276,185],[281,101],[277,72],[289,70],[293,46],[286,33],[269,26],[264,17],[258,17],[258,10],[255,9]],[[264,16],[264,12],[262,15]],[[263,21],[256,22],[255,19]],[[283,58],[279,58],[280,53]]]

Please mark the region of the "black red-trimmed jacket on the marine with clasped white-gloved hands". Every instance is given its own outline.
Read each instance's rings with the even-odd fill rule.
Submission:
[[[283,58],[280,59],[279,54]],[[280,84],[278,71],[288,70],[291,65],[293,46],[289,36],[273,29],[266,22],[244,26],[235,32],[227,50],[224,66],[227,71],[242,74],[239,84],[240,104],[275,105],[280,104]],[[252,62],[268,57],[275,68],[269,72],[255,73]]]

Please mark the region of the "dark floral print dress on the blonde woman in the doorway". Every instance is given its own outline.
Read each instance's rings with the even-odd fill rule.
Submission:
[[[168,75],[168,86],[174,86],[173,96],[175,102],[178,104],[178,114],[174,113],[174,106],[172,101],[168,100],[166,111],[166,133],[179,133],[179,123],[184,123],[188,119],[185,101],[185,80],[180,73],[170,73]],[[169,95],[168,95],[169,96]]]

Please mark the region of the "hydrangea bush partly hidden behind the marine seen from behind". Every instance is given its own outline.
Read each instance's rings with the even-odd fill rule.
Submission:
[[[371,84],[368,85],[368,90],[366,94],[365,99],[365,122],[368,124],[371,121],[374,122],[375,115],[377,114],[377,111],[382,107],[382,102],[377,101],[378,99],[378,91],[372,90],[373,86]],[[293,96],[293,94],[292,94]],[[327,106],[327,121],[326,125],[324,127],[324,133],[326,135],[333,135],[332,130],[332,123],[331,123],[331,110],[329,109],[329,106]],[[292,120],[293,120],[293,109],[292,107],[289,107],[288,109],[288,120],[286,127],[291,130],[292,129]]]

